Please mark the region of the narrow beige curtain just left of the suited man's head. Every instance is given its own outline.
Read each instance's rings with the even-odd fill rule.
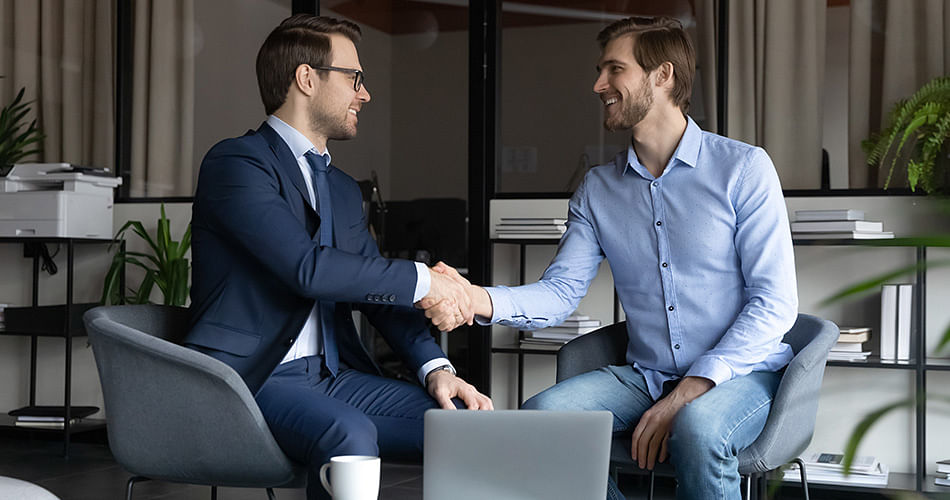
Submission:
[[[132,196],[194,194],[193,0],[136,0]]]

